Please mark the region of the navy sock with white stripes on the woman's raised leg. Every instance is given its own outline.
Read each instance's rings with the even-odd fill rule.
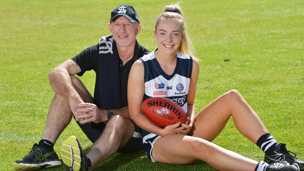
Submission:
[[[269,133],[267,133],[257,140],[257,146],[259,146],[265,153],[271,153],[278,148],[278,142]]]

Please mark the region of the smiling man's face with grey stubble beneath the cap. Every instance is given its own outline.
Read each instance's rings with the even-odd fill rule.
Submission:
[[[136,35],[141,30],[141,24],[130,22],[124,16],[118,16],[115,20],[109,23],[109,29],[114,40],[119,46],[130,46],[135,44]]]

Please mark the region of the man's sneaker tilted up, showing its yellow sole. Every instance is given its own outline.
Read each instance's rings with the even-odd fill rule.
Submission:
[[[61,158],[66,165],[65,170],[69,171],[88,171],[89,159],[83,154],[81,145],[75,136],[64,140],[61,145]]]

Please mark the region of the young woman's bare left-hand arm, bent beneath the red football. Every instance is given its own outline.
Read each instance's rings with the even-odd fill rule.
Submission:
[[[144,82],[144,67],[140,60],[137,60],[132,65],[128,80],[128,104],[130,118],[137,126],[145,131],[160,135],[162,137],[168,134],[177,134],[182,127],[180,122],[169,125],[164,129],[152,124],[144,115],[141,110],[143,97],[145,92]]]

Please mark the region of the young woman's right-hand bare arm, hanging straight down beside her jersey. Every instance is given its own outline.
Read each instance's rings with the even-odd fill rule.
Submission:
[[[199,78],[199,62],[193,58],[193,65],[192,65],[192,75],[190,78],[189,84],[189,92],[188,92],[188,101],[187,101],[187,122],[185,124],[181,124],[184,127],[184,130],[180,130],[178,134],[187,135],[190,130],[192,129],[192,125],[194,122],[195,117],[195,106],[194,106],[194,99],[196,93],[196,83]]]

